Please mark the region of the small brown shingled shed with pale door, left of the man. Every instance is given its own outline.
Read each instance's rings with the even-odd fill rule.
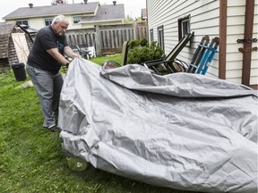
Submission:
[[[14,23],[1,24],[0,71],[5,71],[13,63],[26,63],[32,43],[30,35]]]

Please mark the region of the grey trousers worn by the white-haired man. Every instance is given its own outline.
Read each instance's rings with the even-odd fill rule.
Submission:
[[[44,116],[43,127],[50,127],[56,124],[55,113],[58,113],[60,93],[63,86],[63,77],[60,72],[52,74],[26,65],[26,71],[36,89]]]

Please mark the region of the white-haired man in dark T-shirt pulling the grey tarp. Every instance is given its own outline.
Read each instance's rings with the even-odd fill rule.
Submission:
[[[69,64],[64,55],[80,57],[67,44],[64,33],[68,25],[64,15],[58,15],[50,26],[39,29],[26,65],[26,71],[39,96],[44,116],[43,127],[53,132],[59,131],[55,118],[63,86],[63,77],[59,70],[61,65]]]

